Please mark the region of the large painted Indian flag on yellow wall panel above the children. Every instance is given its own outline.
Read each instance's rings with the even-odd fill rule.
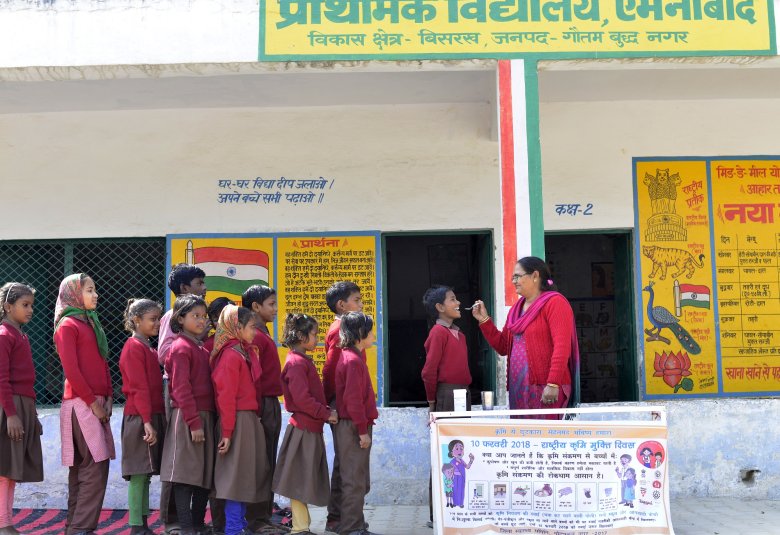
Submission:
[[[198,247],[193,263],[206,273],[209,291],[241,295],[254,284],[268,285],[268,255],[229,247]]]

